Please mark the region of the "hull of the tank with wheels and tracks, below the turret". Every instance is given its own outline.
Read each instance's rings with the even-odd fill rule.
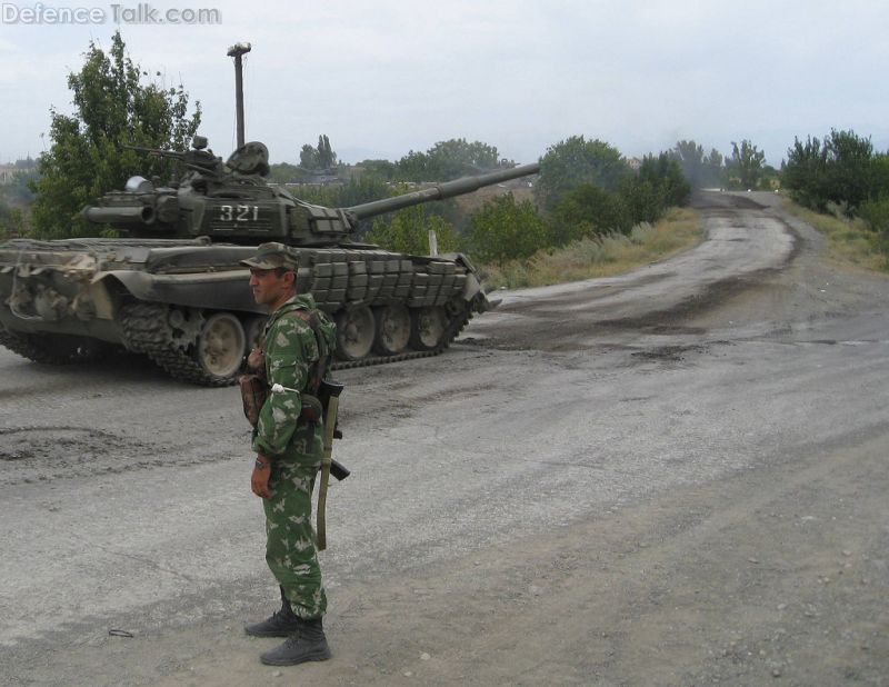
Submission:
[[[298,285],[338,325],[339,367],[443,350],[488,301],[462,255],[291,248]],[[232,384],[262,330],[256,248],[208,239],[13,239],[0,245],[0,344],[63,364],[123,347],[190,382]]]

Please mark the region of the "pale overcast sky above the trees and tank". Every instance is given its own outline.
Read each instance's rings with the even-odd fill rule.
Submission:
[[[878,0],[150,3],[160,17],[218,10],[201,26],[117,24],[114,3],[90,0],[0,2],[0,162],[49,146],[50,106],[71,111],[67,74],[117,28],[134,62],[200,100],[200,132],[223,157],[234,143],[226,51],[238,41],[253,46],[247,139],[273,162],[296,161],[319,133],[347,162],[450,138],[529,162],[575,135],[626,156],[689,138],[728,153],[746,138],[776,166],[795,136],[831,128],[889,148],[889,3]],[[104,19],[50,23],[47,7]],[[22,21],[29,9],[42,23]]]

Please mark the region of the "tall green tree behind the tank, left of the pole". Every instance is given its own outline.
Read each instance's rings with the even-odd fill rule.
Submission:
[[[169,178],[170,160],[149,158],[123,145],[186,150],[200,123],[200,103],[188,114],[188,94],[180,84],[142,84],[141,71],[126,52],[120,32],[106,53],[90,42],[79,72],[68,74],[74,114],[50,109],[50,149],[38,159],[32,183],[33,233],[47,238],[90,236],[94,225],[79,211],[94,198],[133,175]]]

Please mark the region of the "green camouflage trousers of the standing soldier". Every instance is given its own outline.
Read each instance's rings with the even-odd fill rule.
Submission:
[[[289,460],[272,462],[266,509],[266,562],[300,618],[320,618],[327,594],[318,565],[312,527],[312,488],[317,466]]]

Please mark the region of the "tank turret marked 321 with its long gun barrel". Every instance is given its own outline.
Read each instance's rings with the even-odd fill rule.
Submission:
[[[525,165],[349,208],[326,208],[304,202],[266,181],[269,158],[264,145],[248,142],[223,165],[203,150],[206,139],[196,140],[196,148],[189,152],[137,149],[183,161],[189,171],[177,189],[156,189],[147,179],[133,177],[123,191],[106,193],[97,206],[84,208],[83,216],[136,238],[206,236],[211,241],[240,245],[274,240],[294,247],[333,246],[358,240],[359,220],[471,193],[540,171],[537,163]]]

